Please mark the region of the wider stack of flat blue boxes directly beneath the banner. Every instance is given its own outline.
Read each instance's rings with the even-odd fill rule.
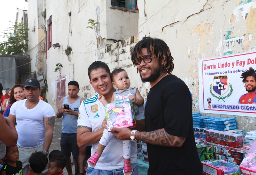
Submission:
[[[215,129],[219,131],[228,131],[237,129],[237,123],[233,118],[214,117],[210,119],[203,119],[204,128]]]

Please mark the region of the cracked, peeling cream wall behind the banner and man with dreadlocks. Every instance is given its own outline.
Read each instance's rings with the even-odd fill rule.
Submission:
[[[256,49],[255,0],[189,0],[186,5],[179,0],[162,0],[161,5],[139,0],[138,8],[139,40],[151,36],[168,44],[173,74],[192,92],[194,112],[199,112],[198,60]],[[235,118],[239,129],[256,130],[254,117],[203,115]]]

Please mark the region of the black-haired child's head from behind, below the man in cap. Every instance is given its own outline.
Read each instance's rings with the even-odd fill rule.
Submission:
[[[41,173],[48,163],[48,158],[41,151],[35,151],[31,154],[28,162],[30,171],[33,173]]]

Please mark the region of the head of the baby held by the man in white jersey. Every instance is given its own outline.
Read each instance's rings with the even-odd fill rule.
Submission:
[[[113,81],[113,85],[119,90],[128,89],[131,85],[128,74],[124,69],[114,69],[110,76]]]

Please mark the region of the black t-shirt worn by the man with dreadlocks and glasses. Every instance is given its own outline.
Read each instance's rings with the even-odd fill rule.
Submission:
[[[145,108],[146,131],[164,130],[186,137],[181,147],[147,143],[148,175],[202,175],[192,122],[192,99],[187,85],[174,75],[165,76],[153,86]]]

